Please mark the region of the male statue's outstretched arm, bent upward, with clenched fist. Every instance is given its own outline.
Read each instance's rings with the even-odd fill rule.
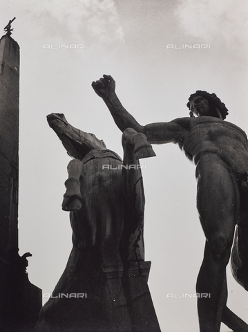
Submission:
[[[106,103],[117,127],[123,132],[126,128],[133,128],[137,132],[144,133],[149,143],[181,143],[187,133],[190,118],[176,119],[171,122],[159,122],[142,126],[122,106],[115,93],[115,80],[110,75],[104,75],[98,81],[92,83],[95,93]]]

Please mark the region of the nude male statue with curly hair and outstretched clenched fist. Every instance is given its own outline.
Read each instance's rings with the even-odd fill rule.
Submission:
[[[232,253],[235,279],[248,291],[248,149],[242,129],[224,121],[228,111],[220,99],[196,91],[187,106],[190,117],[171,122],[140,125],[124,109],[109,75],[93,82],[121,131],[131,127],[146,135],[151,144],[173,142],[196,165],[197,208],[206,237],[204,259],[196,291],[210,293],[198,298],[201,332],[219,332],[224,322],[233,331],[248,331],[248,325],[227,308],[226,266]]]

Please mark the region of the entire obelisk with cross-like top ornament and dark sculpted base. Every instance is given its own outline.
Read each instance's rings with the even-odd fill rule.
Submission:
[[[30,253],[20,257],[18,248],[19,45],[10,37],[12,21],[0,39],[0,331],[31,332],[41,290],[26,273]]]

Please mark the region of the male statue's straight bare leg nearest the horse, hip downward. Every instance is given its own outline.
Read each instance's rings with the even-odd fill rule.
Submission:
[[[219,332],[227,303],[226,266],[240,206],[238,181],[217,155],[203,156],[196,175],[198,212],[207,239],[196,285],[200,331]]]

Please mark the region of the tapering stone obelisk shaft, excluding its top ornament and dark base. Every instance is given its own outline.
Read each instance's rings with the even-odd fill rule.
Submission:
[[[0,255],[18,248],[19,45],[0,39]]]

